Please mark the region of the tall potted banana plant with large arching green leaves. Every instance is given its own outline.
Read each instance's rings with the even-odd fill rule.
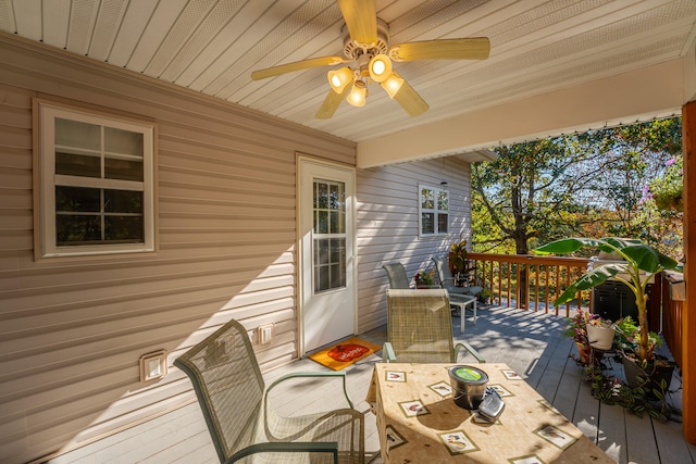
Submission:
[[[650,377],[659,366],[668,363],[659,360],[652,351],[656,340],[650,337],[648,331],[648,294],[646,289],[652,276],[667,269],[675,269],[679,267],[679,263],[638,240],[616,237],[561,239],[539,247],[534,252],[537,254],[566,254],[584,247],[595,247],[606,253],[613,252],[623,261],[605,263],[583,274],[556,299],[554,304],[559,305],[571,301],[579,291],[596,287],[609,278],[625,284],[635,297],[638,326],[633,338],[635,351],[625,351],[624,360],[635,361],[644,376]]]

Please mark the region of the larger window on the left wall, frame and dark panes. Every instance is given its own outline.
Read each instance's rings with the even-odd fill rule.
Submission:
[[[154,125],[36,101],[37,256],[154,251]]]

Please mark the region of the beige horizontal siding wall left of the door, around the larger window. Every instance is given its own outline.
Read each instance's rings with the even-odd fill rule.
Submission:
[[[157,124],[157,253],[34,261],[33,97]],[[263,369],[296,356],[297,152],[355,165],[351,142],[0,36],[0,461],[190,400],[138,359],[171,366],[231,317],[275,324]]]

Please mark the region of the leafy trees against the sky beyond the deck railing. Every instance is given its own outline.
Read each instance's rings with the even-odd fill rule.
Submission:
[[[681,153],[681,118],[494,151],[496,161],[472,165],[475,251],[527,254],[536,243],[579,235],[657,244],[659,217],[646,214],[655,205],[645,201],[644,189]]]

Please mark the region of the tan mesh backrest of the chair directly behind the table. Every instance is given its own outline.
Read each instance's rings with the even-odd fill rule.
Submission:
[[[387,341],[399,363],[456,362],[447,290],[387,290]]]

